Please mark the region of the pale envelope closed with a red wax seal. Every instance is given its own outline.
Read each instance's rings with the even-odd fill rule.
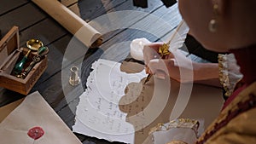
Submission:
[[[16,101],[6,107],[0,107],[0,122],[3,120],[0,124],[1,143],[81,144],[79,139],[38,92],[27,95],[24,101],[21,101]],[[33,127],[42,128],[44,135],[37,140],[32,139],[27,135],[27,132]]]

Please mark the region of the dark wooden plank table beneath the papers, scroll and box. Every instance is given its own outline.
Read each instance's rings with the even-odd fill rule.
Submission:
[[[160,38],[168,37],[168,34],[172,32],[173,28],[177,26],[180,20],[180,16],[177,14],[177,5],[174,6],[176,9],[174,7],[167,9],[160,0],[148,1],[148,9],[134,7],[131,0],[80,0],[79,3],[70,2],[73,1],[63,1],[68,8],[80,14],[82,19],[87,22],[96,19],[96,17],[102,14],[113,11],[137,10],[148,14],[155,14],[163,20],[166,20],[167,23],[172,24],[172,27],[163,29],[165,32],[161,37],[154,37],[147,32],[140,32],[129,28],[103,33],[104,42],[102,46],[98,49],[89,49],[84,56],[81,70],[83,86],[85,86],[86,78],[90,72],[90,64],[100,58],[103,53],[116,61],[125,60],[125,58],[129,57],[129,47],[108,50],[113,44],[131,41],[137,37],[146,37],[151,42],[159,41]],[[143,19],[144,18],[141,20]],[[136,23],[139,21],[140,20],[137,20]],[[131,24],[131,26],[136,23]],[[74,123],[73,108],[77,106],[79,95],[84,90],[72,87],[68,84],[64,86],[61,84],[61,70],[63,68],[61,62],[67,45],[73,35],[67,32],[60,24],[29,0],[1,0],[0,30],[2,36],[6,34],[12,26],[19,26],[20,28],[20,45],[25,45],[26,40],[30,38],[38,38],[44,42],[44,45],[49,47],[48,69],[38,80],[38,83],[35,84],[31,93],[38,90],[68,127],[71,128]],[[151,26],[154,26],[154,23]],[[128,56],[125,57],[124,55]],[[194,58],[197,59],[198,57],[194,56]],[[63,88],[65,88],[65,91],[63,91]],[[20,95],[8,89],[0,88],[0,107],[24,96],[25,95]],[[65,98],[65,96],[68,98]],[[79,139],[83,141],[84,144],[109,143],[108,141],[97,140],[96,138],[84,135],[76,135],[78,135]]]

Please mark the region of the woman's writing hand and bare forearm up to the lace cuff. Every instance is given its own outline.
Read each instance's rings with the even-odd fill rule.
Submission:
[[[218,63],[197,63],[186,57],[182,50],[173,50],[160,57],[158,49],[163,43],[150,43],[143,48],[146,72],[157,78],[170,77],[181,83],[199,83],[219,87]]]

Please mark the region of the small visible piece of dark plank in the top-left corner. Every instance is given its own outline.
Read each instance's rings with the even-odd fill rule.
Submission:
[[[28,0],[1,0],[0,15],[8,13],[13,9],[19,8],[21,5],[28,3]]]

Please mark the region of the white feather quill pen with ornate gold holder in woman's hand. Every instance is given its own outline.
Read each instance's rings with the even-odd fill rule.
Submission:
[[[160,58],[164,58],[164,56],[171,54],[171,52],[169,51],[169,48],[178,49],[182,47],[188,32],[189,32],[189,27],[186,25],[186,23],[183,20],[181,20],[175,32],[172,34],[171,39],[167,43],[164,43],[162,46],[160,46],[160,48],[158,49]],[[148,77],[146,78],[144,84],[147,84],[152,76],[153,76],[152,74],[148,74]]]

